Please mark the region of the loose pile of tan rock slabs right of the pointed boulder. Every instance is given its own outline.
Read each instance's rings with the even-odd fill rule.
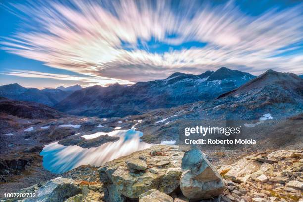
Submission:
[[[277,150],[243,158],[219,169],[227,186],[222,199],[226,202],[302,201],[302,171],[302,150]]]

